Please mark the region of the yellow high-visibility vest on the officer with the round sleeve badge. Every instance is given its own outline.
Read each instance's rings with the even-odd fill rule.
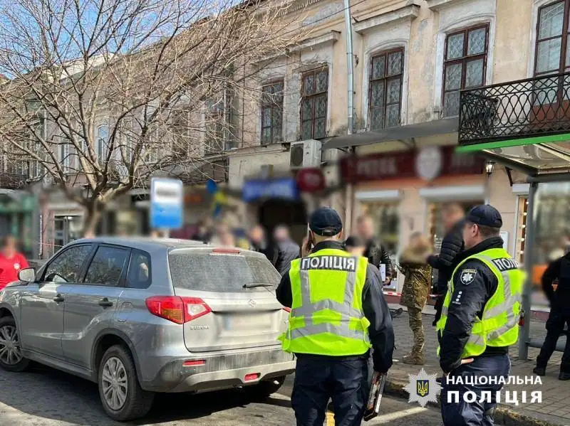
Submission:
[[[519,338],[519,318],[521,314],[522,290],[525,274],[507,250],[492,248],[467,257],[451,276],[447,294],[443,302],[442,314],[437,321],[437,332],[445,334],[447,309],[453,295],[453,280],[462,265],[471,259],[477,259],[489,267],[497,277],[498,285],[492,297],[484,306],[482,317],[475,317],[469,340],[463,348],[462,358],[481,355],[487,346],[509,346]],[[465,273],[465,270],[462,270]],[[440,348],[437,348],[439,355]]]

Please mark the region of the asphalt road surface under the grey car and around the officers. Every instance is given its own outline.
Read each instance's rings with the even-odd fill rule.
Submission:
[[[244,391],[202,395],[158,395],[147,418],[131,425],[273,426],[294,425],[291,380],[271,398],[254,403]],[[439,412],[405,400],[384,398],[385,415],[364,425],[439,426]],[[97,387],[50,368],[26,373],[0,369],[0,425],[116,426],[101,408]],[[124,425],[124,424],[123,424]]]

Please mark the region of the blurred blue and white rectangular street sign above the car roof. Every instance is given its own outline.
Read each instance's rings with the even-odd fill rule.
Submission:
[[[177,179],[150,180],[150,228],[180,229],[184,218],[184,188]]]

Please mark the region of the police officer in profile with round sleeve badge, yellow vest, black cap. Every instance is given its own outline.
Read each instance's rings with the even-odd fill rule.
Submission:
[[[475,206],[465,217],[465,252],[452,273],[437,322],[445,426],[494,425],[499,378],[509,375],[509,346],[518,339],[524,272],[504,250],[501,226],[501,215],[492,206]],[[477,398],[473,400],[472,393],[464,398],[467,392]]]

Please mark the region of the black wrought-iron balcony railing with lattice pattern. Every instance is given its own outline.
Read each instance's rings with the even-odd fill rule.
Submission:
[[[570,73],[461,92],[462,145],[564,133],[570,133]]]

